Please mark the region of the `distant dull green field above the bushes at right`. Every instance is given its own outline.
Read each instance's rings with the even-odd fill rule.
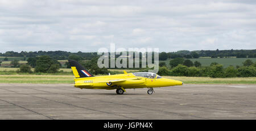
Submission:
[[[198,59],[189,59],[192,62],[198,61],[202,64],[202,66],[208,66],[210,63],[217,62],[220,64],[223,64],[224,67],[228,67],[229,65],[242,65],[245,60],[250,59],[253,60],[253,62],[256,62],[256,58],[198,58]],[[167,66],[169,67],[169,60],[160,60],[159,62],[166,62]]]

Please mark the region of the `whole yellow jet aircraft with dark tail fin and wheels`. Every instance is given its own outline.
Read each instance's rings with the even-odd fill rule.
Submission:
[[[183,85],[183,82],[162,78],[151,72],[135,72],[109,76],[93,76],[75,60],[68,60],[75,75],[75,87],[85,89],[116,89],[117,94],[123,94],[125,89],[148,88],[147,93],[152,94],[153,88],[164,86]],[[154,91],[155,92],[155,91]]]

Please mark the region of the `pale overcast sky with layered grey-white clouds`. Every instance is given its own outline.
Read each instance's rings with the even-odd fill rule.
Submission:
[[[256,1],[0,0],[0,52],[256,49]]]

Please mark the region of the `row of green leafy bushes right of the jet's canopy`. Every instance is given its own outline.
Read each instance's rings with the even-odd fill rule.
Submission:
[[[201,66],[200,62],[194,63],[184,58],[175,58],[170,60],[170,68],[166,63],[159,63],[158,75],[162,76],[188,76],[188,77],[256,77],[256,62],[247,59],[243,62],[242,66],[232,66],[224,68],[222,64],[216,62],[211,63],[209,66]],[[141,69],[142,72],[148,71]]]

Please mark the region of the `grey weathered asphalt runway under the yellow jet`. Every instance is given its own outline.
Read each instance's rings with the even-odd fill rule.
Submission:
[[[256,85],[115,90],[0,84],[0,119],[256,119]]]

